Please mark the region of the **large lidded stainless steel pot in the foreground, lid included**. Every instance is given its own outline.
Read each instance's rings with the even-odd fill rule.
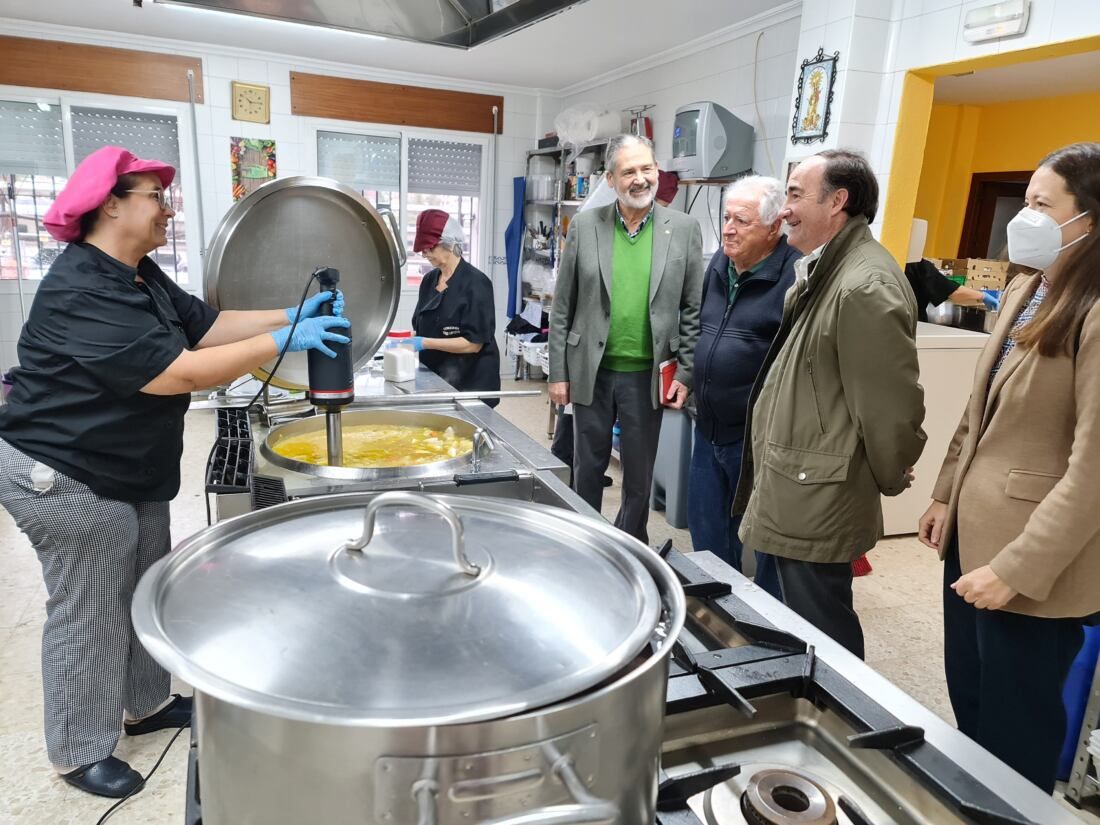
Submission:
[[[300,499],[183,542],[133,619],[195,686],[204,825],[653,821],[683,593],[603,521]]]

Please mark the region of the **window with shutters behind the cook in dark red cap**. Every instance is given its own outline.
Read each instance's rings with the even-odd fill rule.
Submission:
[[[408,140],[406,204],[400,204],[402,139],[380,135],[317,133],[317,173],[346,184],[375,206],[400,216],[408,249],[405,284],[415,288],[431,265],[413,252],[416,220],[425,209],[442,209],[458,218],[466,235],[463,254],[479,255],[482,146],[447,140]]]

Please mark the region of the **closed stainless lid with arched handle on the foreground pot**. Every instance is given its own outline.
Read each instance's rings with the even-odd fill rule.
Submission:
[[[317,496],[184,541],[142,578],[133,620],[161,664],[237,705],[344,725],[477,722],[575,696],[642,652],[662,616],[653,560],[541,505]]]

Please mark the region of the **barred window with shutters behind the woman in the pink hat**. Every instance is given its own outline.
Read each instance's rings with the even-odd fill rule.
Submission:
[[[174,116],[76,106],[69,114],[75,163],[97,148],[119,145],[179,168]],[[65,158],[59,105],[0,100],[0,278],[42,278],[64,249],[42,221],[68,182]],[[150,256],[186,284],[187,218],[178,173],[172,196],[176,216],[168,226],[168,242]]]

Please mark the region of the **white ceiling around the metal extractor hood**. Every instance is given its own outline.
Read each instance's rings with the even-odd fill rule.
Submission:
[[[784,0],[587,0],[469,52],[144,0],[0,0],[0,18],[94,33],[193,41],[455,81],[563,89],[771,9]],[[689,9],[685,7],[690,7]],[[135,47],[141,47],[135,38]]]

